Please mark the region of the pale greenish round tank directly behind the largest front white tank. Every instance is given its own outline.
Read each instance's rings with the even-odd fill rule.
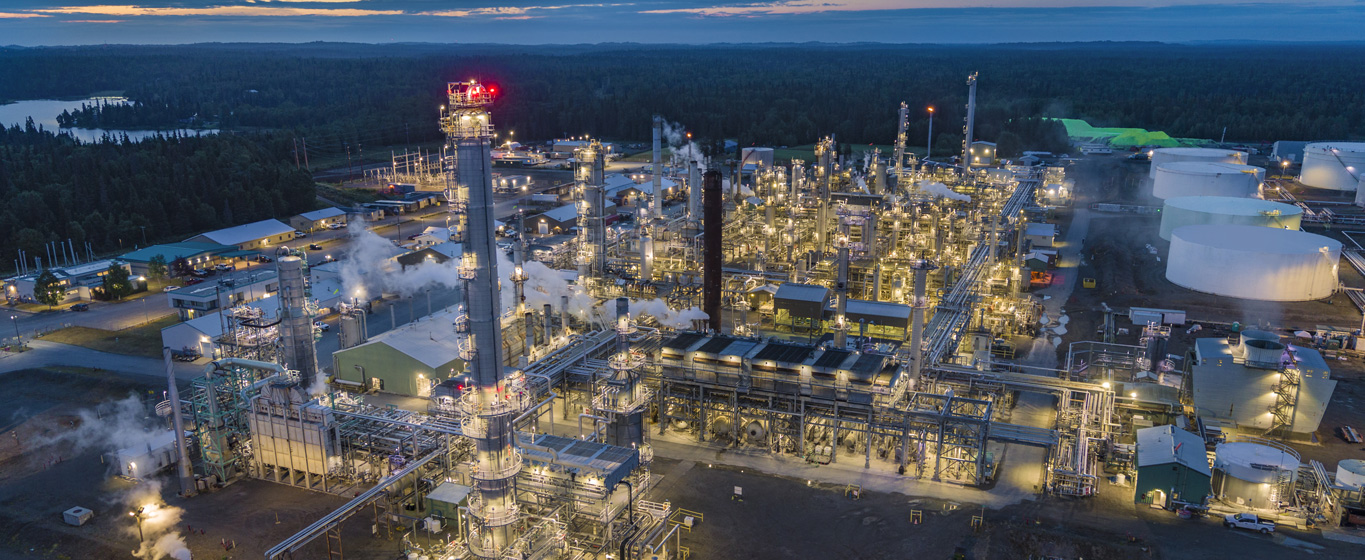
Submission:
[[[1233,197],[1167,198],[1162,205],[1162,239],[1171,240],[1171,231],[1182,225],[1233,224],[1265,228],[1298,229],[1304,209],[1263,201]]]

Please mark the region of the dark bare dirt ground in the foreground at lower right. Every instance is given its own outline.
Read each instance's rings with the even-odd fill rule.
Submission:
[[[1136,505],[1132,488],[1104,484],[1089,499],[1039,497],[1003,509],[864,492],[657,459],[667,477],[651,499],[703,514],[682,545],[695,559],[1357,559],[1358,545],[1283,530],[1261,537],[1213,519],[1183,520]],[[730,496],[741,486],[743,501]],[[919,511],[920,523],[912,522]],[[981,529],[973,518],[981,516]],[[961,556],[954,556],[961,555]]]

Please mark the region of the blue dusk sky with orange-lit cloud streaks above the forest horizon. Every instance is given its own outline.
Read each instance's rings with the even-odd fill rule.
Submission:
[[[1361,41],[1365,0],[0,0],[0,45]]]

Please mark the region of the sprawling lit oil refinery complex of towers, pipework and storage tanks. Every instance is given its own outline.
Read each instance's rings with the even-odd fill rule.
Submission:
[[[1343,277],[1365,275],[1365,145],[1308,143],[1297,176],[1231,148],[1024,164],[973,138],[976,74],[965,89],[943,157],[912,153],[901,104],[868,108],[895,119],[885,153],[704,154],[655,116],[622,158],[495,146],[497,90],[450,82],[444,145],[366,175],[444,223],[397,246],[351,224],[322,261],[253,247],[273,288],[187,313],[216,329],[188,343],[202,373],[177,388],[167,348],[158,447],[113,464],[173,473],[182,508],[247,481],[344,499],[269,560],[732,557],[708,542],[744,538],[715,520],[736,514],[693,504],[688,468],[991,504],[962,531],[1037,496],[1365,520],[1360,459],[1302,451],[1358,443],[1328,404],[1334,369],[1360,367],[1365,296]],[[535,194],[506,171],[545,161],[568,169]],[[1082,198],[1095,169],[1136,194]]]

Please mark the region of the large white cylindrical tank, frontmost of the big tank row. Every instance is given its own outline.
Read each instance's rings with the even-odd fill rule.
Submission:
[[[1332,295],[1342,243],[1254,225],[1185,225],[1171,232],[1166,279],[1230,298],[1306,302]]]

